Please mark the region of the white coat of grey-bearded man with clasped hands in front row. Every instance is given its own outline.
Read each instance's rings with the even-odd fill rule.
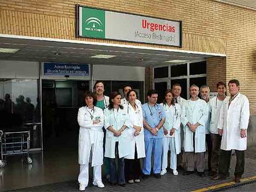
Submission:
[[[194,103],[192,103],[194,102]],[[192,125],[200,123],[195,129],[195,152],[205,152],[205,123],[208,119],[207,102],[202,99],[191,101],[190,99],[183,104],[181,122],[184,126],[184,150],[185,152],[194,151],[193,132],[189,130],[187,122]]]

